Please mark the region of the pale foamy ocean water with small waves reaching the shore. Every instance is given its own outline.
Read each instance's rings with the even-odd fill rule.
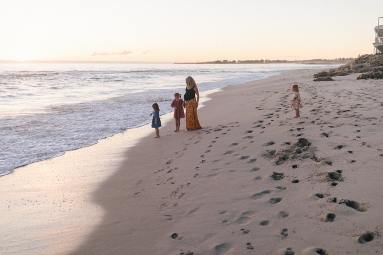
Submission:
[[[192,76],[199,91],[264,79],[303,64],[0,64],[0,176],[171,112]]]

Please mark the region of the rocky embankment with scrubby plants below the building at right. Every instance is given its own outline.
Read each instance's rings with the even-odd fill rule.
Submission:
[[[331,77],[345,76],[349,73],[365,73],[357,79],[383,79],[383,54],[365,54],[350,63],[328,72],[320,72],[314,75],[314,81],[333,81]]]

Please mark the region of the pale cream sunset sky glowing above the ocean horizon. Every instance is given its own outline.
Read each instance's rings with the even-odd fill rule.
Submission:
[[[0,60],[357,57],[373,53],[382,7],[382,0],[1,0]]]

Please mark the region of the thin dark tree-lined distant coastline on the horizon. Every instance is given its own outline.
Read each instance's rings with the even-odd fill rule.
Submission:
[[[175,64],[306,64],[306,65],[334,65],[334,64],[347,64],[354,58],[338,58],[338,59],[310,59],[310,60],[215,60],[207,62],[188,62],[188,63],[175,63]]]

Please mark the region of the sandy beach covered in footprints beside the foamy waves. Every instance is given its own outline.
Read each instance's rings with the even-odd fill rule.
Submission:
[[[57,181],[60,189],[44,188],[51,194],[45,211],[63,194],[68,203],[75,200],[70,196],[86,195],[81,200],[86,206],[76,219],[60,214],[49,219],[76,222],[72,228],[61,221],[54,233],[66,235],[53,237],[49,249],[41,249],[47,240],[36,242],[28,231],[26,240],[39,254],[383,253],[383,81],[350,74],[313,82],[318,71],[289,71],[210,94],[212,100],[198,110],[199,130],[174,132],[168,117],[161,138],[153,139],[154,130],[147,128],[131,147],[124,145],[126,134],[119,134],[118,143],[48,160],[61,160],[72,173],[87,165],[86,174],[69,175],[73,187],[62,173],[23,184],[30,178],[26,170],[41,172],[48,161],[15,169],[0,179],[1,194],[9,195],[1,198],[0,211],[7,236],[14,242],[22,235],[23,219],[34,221],[22,215],[25,207],[8,211],[16,207],[10,194],[18,194],[21,203],[40,195],[36,182]],[[293,84],[304,105],[296,119],[290,109]],[[74,161],[67,156],[81,150],[92,156]],[[108,167],[112,170],[105,173]],[[100,211],[92,213],[94,208]],[[86,225],[89,220],[94,222]],[[34,254],[25,243],[20,246],[19,254]],[[2,243],[0,253],[14,249]]]

